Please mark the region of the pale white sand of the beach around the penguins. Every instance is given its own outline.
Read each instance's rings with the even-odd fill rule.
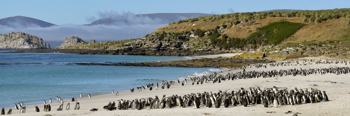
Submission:
[[[251,68],[246,69],[246,71],[251,70],[280,70],[280,69],[294,69],[294,68],[319,68],[319,67],[343,67],[344,64],[312,64],[305,66],[283,66],[283,67],[268,67],[268,68]],[[230,72],[237,72],[240,70],[233,70]],[[227,72],[223,72],[226,74]],[[331,84],[329,81],[338,82],[336,84]],[[312,87],[313,84],[318,85],[318,87]],[[178,95],[183,96],[190,93],[202,93],[202,92],[218,92],[218,90],[232,91],[237,90],[241,87],[248,89],[249,87],[260,87],[271,88],[276,87],[286,87],[288,90],[294,87],[298,89],[304,88],[315,88],[321,91],[326,91],[329,102],[321,102],[315,104],[302,104],[295,106],[280,106],[279,108],[264,108],[263,105],[248,105],[248,107],[237,106],[223,108],[205,108],[201,106],[200,109],[189,108],[179,108],[175,107],[173,109],[146,109],[137,110],[116,110],[116,111],[106,111],[102,107],[107,105],[109,101],[117,101],[120,99],[133,100],[140,98],[153,97],[157,95],[161,97],[162,95]],[[131,87],[130,87],[131,88]],[[34,113],[33,106],[27,106],[25,114],[18,114],[19,110],[13,110],[12,116],[44,116],[46,114],[52,116],[291,116],[292,114],[284,114],[287,111],[292,111],[293,113],[301,113],[299,116],[350,116],[350,78],[349,75],[335,75],[335,74],[325,74],[325,75],[307,75],[307,76],[284,76],[276,78],[253,78],[253,79],[242,79],[242,80],[228,80],[222,81],[221,83],[204,83],[203,85],[191,85],[185,84],[180,86],[180,84],[175,84],[171,86],[170,89],[155,90],[152,91],[143,90],[138,92],[135,90],[134,93],[129,92],[119,92],[119,96],[112,94],[92,96],[91,99],[77,99],[80,103],[80,110],[70,110],[65,111],[65,105],[70,103],[70,109],[74,109],[75,103],[64,102],[63,111],[56,111],[58,108],[58,103],[51,104],[51,112],[43,112],[43,105],[38,105],[40,108],[39,113]],[[99,109],[97,112],[90,112],[92,108]],[[8,109],[6,109],[6,112]],[[266,113],[275,112],[275,113]]]

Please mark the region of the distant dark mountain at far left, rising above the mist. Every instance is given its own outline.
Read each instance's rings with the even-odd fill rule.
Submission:
[[[49,27],[55,24],[45,22],[39,19],[25,17],[25,16],[12,16],[0,19],[0,25],[18,28],[18,27],[31,27],[31,26],[40,26],[40,27]]]

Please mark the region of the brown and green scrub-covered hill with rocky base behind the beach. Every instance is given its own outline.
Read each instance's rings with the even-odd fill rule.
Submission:
[[[179,20],[141,38],[69,48],[347,56],[349,30],[350,8],[243,12]]]

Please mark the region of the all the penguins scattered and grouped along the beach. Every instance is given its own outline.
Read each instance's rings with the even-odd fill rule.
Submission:
[[[194,77],[189,78],[192,81],[192,85],[196,84],[202,84],[202,83],[220,83],[221,81],[226,80],[235,80],[235,79],[248,79],[248,78],[269,78],[269,77],[282,77],[282,76],[306,76],[310,74],[327,74],[327,73],[333,73],[336,75],[339,74],[347,74],[350,73],[350,67],[330,67],[330,68],[315,68],[315,69],[288,69],[288,70],[270,70],[270,71],[245,71],[247,68],[267,68],[267,67],[276,67],[276,66],[296,66],[296,65],[308,65],[311,64],[312,60],[305,60],[305,61],[281,61],[281,62],[274,62],[274,63],[267,63],[267,64],[254,64],[254,65],[248,65],[248,66],[241,66],[238,68],[231,68],[229,70],[243,70],[237,73],[228,73],[227,75],[218,75],[216,72],[214,72],[212,75],[209,76],[202,76],[202,77]],[[294,64],[292,64],[294,63]],[[318,60],[314,61],[315,64],[345,64],[347,65],[347,61],[333,61],[333,60]],[[350,63],[350,62],[349,62]],[[177,80],[177,83],[180,83],[179,80]],[[181,85],[183,86],[184,83],[187,83],[187,80],[184,79],[182,81]],[[174,85],[174,81],[166,81],[165,83],[161,84],[161,89],[167,88],[169,89],[171,85]],[[146,88],[149,88],[151,91],[153,88],[153,84],[147,84],[145,85]],[[142,91],[142,89],[146,89],[144,86],[137,87],[136,89],[138,91]],[[155,88],[158,88],[158,83],[156,84]],[[149,109],[162,109],[162,108],[172,108],[175,106],[180,106],[183,108],[186,108],[188,106],[195,106],[196,108],[199,108],[199,105],[205,105],[205,107],[211,108],[212,105],[214,105],[215,108],[219,108],[221,106],[221,103],[223,103],[223,106],[226,108],[228,106],[236,106],[236,105],[255,105],[255,104],[263,104],[265,107],[268,107],[268,105],[273,105],[274,107],[283,106],[283,105],[300,105],[300,104],[307,104],[307,103],[317,103],[317,102],[324,102],[328,101],[328,98],[325,94],[325,91],[321,92],[317,89],[313,90],[311,88],[310,91],[303,90],[297,90],[296,88],[294,90],[290,90],[289,92],[284,90],[276,91],[277,89],[274,87],[272,89],[267,89],[261,91],[259,88],[257,89],[250,89],[249,91],[245,90],[239,90],[239,91],[232,91],[231,93],[227,92],[221,92],[219,93],[197,93],[197,94],[187,94],[183,97],[181,96],[171,96],[168,98],[165,98],[165,95],[161,100],[158,99],[157,96],[155,98],[147,98],[147,99],[135,99],[132,101],[125,101],[125,100],[119,100],[118,105],[115,107],[115,103],[110,103],[107,106],[104,106],[103,109],[106,110],[126,110],[128,108],[130,109],[137,109],[141,110],[145,107],[149,107]],[[134,89],[130,89],[130,92],[134,92]],[[114,91],[112,90],[112,94],[114,94]],[[118,96],[118,92],[115,94]],[[80,94],[79,98],[82,98],[82,94]],[[91,98],[91,96],[88,94],[88,98]],[[227,100],[226,100],[227,99]],[[221,100],[221,101],[219,101]],[[63,100],[60,97],[56,97],[56,102],[60,103],[59,108],[57,111],[62,111],[63,109]],[[76,98],[72,98],[72,102],[76,102]],[[49,99],[49,104],[52,103],[51,98]],[[44,112],[51,111],[50,105],[46,105],[46,101],[44,101]],[[23,103],[14,104],[15,109],[19,110],[19,113],[25,113],[26,108]],[[79,110],[79,103],[76,102],[74,110]],[[66,105],[66,110],[70,109],[70,105]],[[37,106],[34,106],[35,112],[39,112],[39,108]],[[97,111],[96,109],[93,111]],[[9,109],[7,112],[7,115],[11,114],[12,110]],[[4,109],[1,110],[1,115],[4,115]]]

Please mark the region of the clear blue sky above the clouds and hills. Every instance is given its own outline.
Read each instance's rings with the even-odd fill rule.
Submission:
[[[54,24],[86,24],[98,12],[230,13],[269,9],[333,9],[348,0],[1,0],[0,18],[22,15]]]

